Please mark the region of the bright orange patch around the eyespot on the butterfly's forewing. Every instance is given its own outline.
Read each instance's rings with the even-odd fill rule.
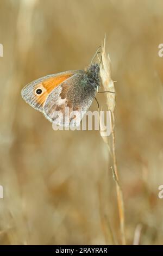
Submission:
[[[41,83],[37,84],[34,88],[34,94],[36,97],[36,102],[39,105],[42,105],[45,103],[47,96],[49,93],[52,92],[52,90],[59,86],[60,83],[64,82],[67,80],[69,77],[71,77],[73,74],[62,74],[59,76],[47,78],[45,81],[42,81]],[[37,94],[37,89],[41,89],[42,93]]]

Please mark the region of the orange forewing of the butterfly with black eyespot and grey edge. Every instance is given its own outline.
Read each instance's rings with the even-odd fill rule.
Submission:
[[[22,89],[22,97],[30,106],[43,113],[45,101],[52,90],[63,81],[70,79],[74,74],[81,74],[82,72],[83,70],[70,70],[41,77]]]

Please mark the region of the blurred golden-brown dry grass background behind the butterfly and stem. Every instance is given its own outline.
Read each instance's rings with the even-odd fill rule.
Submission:
[[[0,1],[2,245],[121,241],[112,160],[99,132],[53,131],[21,97],[36,78],[85,68],[105,33],[127,243],[138,235],[142,245],[162,244],[162,11],[161,0]]]

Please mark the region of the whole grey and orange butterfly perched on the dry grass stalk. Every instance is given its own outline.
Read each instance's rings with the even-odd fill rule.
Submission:
[[[86,112],[99,87],[99,65],[92,64],[86,70],[71,70],[41,77],[22,89],[23,99],[55,122],[54,113],[65,114],[65,107]],[[83,114],[81,115],[82,119]],[[61,125],[70,125],[71,118]],[[57,121],[56,121],[57,122]]]

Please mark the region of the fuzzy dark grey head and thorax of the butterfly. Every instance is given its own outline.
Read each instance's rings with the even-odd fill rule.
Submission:
[[[88,82],[95,88],[99,87],[99,64],[91,64],[86,69]]]

